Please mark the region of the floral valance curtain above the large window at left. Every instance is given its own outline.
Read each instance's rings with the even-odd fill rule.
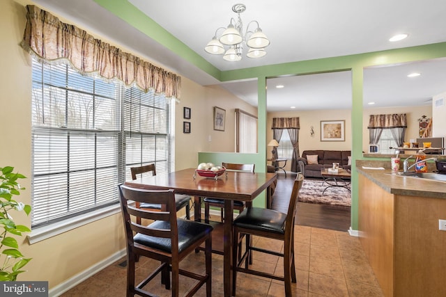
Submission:
[[[26,27],[22,47],[45,63],[68,60],[82,74],[100,75],[123,81],[147,92],[180,98],[181,79],[176,74],[125,53],[86,31],[65,24],[45,10],[26,6]]]

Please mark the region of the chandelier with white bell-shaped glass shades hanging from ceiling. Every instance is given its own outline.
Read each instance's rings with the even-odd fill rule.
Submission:
[[[242,59],[243,45],[249,48],[246,56],[248,58],[261,58],[266,55],[265,47],[270,45],[270,40],[263,34],[259,27],[259,22],[251,21],[246,26],[245,34],[243,34],[243,22],[240,13],[246,10],[244,4],[236,4],[232,6],[232,11],[237,13],[237,20],[231,17],[231,22],[227,28],[220,27],[215,31],[214,38],[208,42],[204,50],[209,54],[223,55],[224,60],[236,62]],[[249,25],[255,23],[256,29],[249,31]],[[222,35],[217,39],[217,33],[223,29]],[[229,46],[225,49],[224,45]]]

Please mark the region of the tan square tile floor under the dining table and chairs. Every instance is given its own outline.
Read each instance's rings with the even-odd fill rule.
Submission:
[[[258,246],[281,245],[282,242],[255,239]],[[293,285],[293,296],[383,296],[371,270],[359,239],[347,232],[295,226],[295,261],[297,283]],[[125,296],[125,268],[119,266],[123,260],[105,268],[62,296]],[[253,266],[277,271],[283,275],[282,258],[254,252]],[[204,269],[203,252],[192,253],[181,262],[187,268],[201,272]],[[151,259],[141,258],[137,264],[137,280],[142,280],[156,265]],[[213,255],[213,296],[223,296],[223,257]],[[193,280],[180,276],[180,295]],[[159,296],[171,296],[159,280],[151,284],[151,292]],[[206,296],[202,287],[196,296]],[[283,282],[238,273],[236,296],[285,296]]]

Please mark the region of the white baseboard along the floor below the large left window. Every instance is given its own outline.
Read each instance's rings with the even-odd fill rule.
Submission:
[[[98,263],[93,264],[93,266],[87,268],[86,270],[82,271],[81,273],[78,273],[77,275],[73,276],[72,278],[66,280],[65,282],[62,282],[61,284],[58,284],[56,287],[53,287],[49,289],[48,296],[61,296],[61,294],[65,293],[69,289],[75,287],[77,284],[80,284],[84,280],[91,278],[91,276],[95,275],[95,273],[98,273],[102,269],[106,268],[107,266],[112,265],[114,262],[118,261],[118,259],[121,259],[126,254],[126,250],[120,250],[116,252],[114,255],[108,257],[107,259],[104,259]]]

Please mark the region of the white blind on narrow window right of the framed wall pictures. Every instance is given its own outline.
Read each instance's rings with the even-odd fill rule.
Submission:
[[[257,152],[257,118],[236,109],[236,152]]]

